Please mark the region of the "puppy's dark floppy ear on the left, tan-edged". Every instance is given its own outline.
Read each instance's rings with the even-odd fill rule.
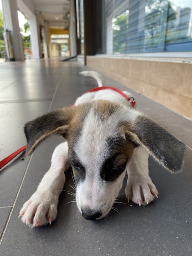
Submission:
[[[27,139],[26,154],[30,155],[44,139],[52,134],[65,136],[69,130],[72,108],[53,110],[28,122],[24,126]]]

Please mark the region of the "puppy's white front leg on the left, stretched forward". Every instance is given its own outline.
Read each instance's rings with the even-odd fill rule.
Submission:
[[[51,167],[42,178],[36,192],[20,210],[22,222],[42,226],[53,222],[57,215],[58,198],[65,183],[64,172],[69,168],[68,144],[59,144],[52,155]]]

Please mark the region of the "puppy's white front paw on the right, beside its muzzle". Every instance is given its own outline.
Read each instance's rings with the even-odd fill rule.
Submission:
[[[141,204],[149,204],[155,197],[158,198],[156,186],[149,176],[144,177],[139,175],[128,177],[125,192],[128,203],[129,200],[132,200],[132,202],[139,204],[139,206],[141,206]]]

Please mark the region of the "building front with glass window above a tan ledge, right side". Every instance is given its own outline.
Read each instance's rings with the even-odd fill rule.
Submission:
[[[192,2],[82,2],[86,65],[192,118]]]

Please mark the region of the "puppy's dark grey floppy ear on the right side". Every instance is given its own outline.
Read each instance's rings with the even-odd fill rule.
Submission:
[[[179,172],[184,163],[185,144],[146,116],[139,115],[126,138],[144,147],[170,172]]]

